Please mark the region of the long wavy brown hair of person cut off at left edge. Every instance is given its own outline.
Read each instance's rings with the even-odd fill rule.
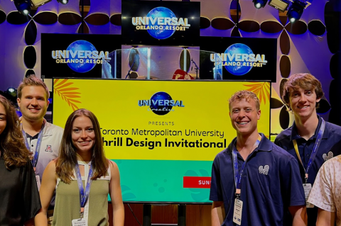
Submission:
[[[6,128],[0,134],[0,149],[3,152],[1,155],[4,157],[6,169],[11,170],[14,166],[24,166],[31,154],[24,144],[15,108],[1,95],[0,104],[6,112]]]

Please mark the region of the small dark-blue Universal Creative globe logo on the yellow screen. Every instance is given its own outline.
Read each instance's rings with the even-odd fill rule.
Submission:
[[[158,92],[151,96],[150,100],[140,100],[139,106],[149,106],[150,110],[156,115],[166,115],[171,111],[174,111],[173,108],[180,107],[184,108],[183,101],[174,101],[171,96],[165,92]],[[150,111],[148,108],[148,111]]]

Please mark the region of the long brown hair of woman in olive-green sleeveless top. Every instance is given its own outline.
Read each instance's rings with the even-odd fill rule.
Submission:
[[[77,150],[72,145],[72,127],[73,122],[80,116],[90,118],[94,126],[94,147],[92,147],[92,166],[94,167],[94,176],[92,179],[97,179],[107,174],[109,166],[108,160],[104,155],[103,141],[99,122],[91,111],[87,109],[78,109],[71,113],[65,123],[65,129],[62,140],[60,142],[59,157],[55,163],[55,172],[64,183],[70,183],[73,176],[73,169],[77,164]]]

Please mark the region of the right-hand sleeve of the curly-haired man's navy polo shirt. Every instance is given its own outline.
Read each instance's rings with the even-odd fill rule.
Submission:
[[[305,195],[300,169],[296,159],[291,157],[281,167],[281,190],[286,206],[305,205]]]

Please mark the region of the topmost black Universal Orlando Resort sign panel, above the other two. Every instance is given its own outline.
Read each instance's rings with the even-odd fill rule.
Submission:
[[[122,40],[129,45],[199,45],[200,2],[122,1]]]

